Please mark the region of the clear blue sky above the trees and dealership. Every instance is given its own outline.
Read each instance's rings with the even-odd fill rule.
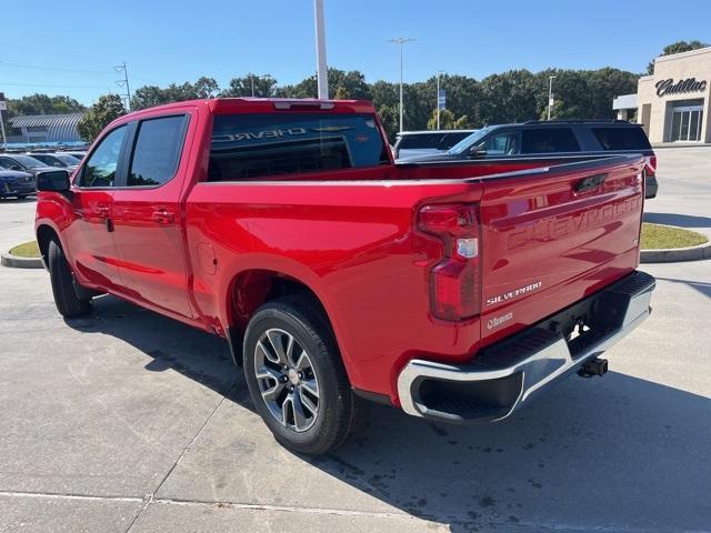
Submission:
[[[641,72],[670,42],[711,41],[708,0],[683,8],[670,0],[324,4],[329,66],[360,70],[368,81],[398,79],[398,50],[387,42],[397,36],[417,39],[405,48],[405,81],[437,70],[474,78],[547,67]],[[312,0],[12,0],[1,17],[0,91],[10,98],[46,92],[91,103],[119,91],[112,67],[122,61],[133,89],[202,74],[227,86],[250,71],[283,84],[316,70]]]

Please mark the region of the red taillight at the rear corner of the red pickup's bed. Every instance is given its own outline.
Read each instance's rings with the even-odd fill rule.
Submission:
[[[481,312],[481,258],[477,207],[425,205],[418,228],[438,237],[444,258],[430,271],[430,308],[443,320],[463,320]]]

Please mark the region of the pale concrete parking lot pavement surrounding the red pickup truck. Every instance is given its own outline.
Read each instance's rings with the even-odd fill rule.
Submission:
[[[660,149],[650,222],[711,237],[711,148]],[[0,202],[0,249],[34,202]],[[711,261],[648,264],[653,313],[504,422],[373,405],[337,453],[287,452],[224,341],[113,298],[64,321],[0,268],[0,532],[711,531]]]

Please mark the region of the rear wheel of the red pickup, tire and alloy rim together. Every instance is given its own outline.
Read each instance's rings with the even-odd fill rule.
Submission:
[[[252,402],[282,445],[318,455],[346,440],[357,399],[314,306],[293,299],[262,305],[247,328],[243,363]]]

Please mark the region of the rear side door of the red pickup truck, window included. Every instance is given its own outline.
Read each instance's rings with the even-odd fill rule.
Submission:
[[[180,225],[189,113],[133,122],[126,173],[114,190],[112,225],[127,296],[191,318]]]

